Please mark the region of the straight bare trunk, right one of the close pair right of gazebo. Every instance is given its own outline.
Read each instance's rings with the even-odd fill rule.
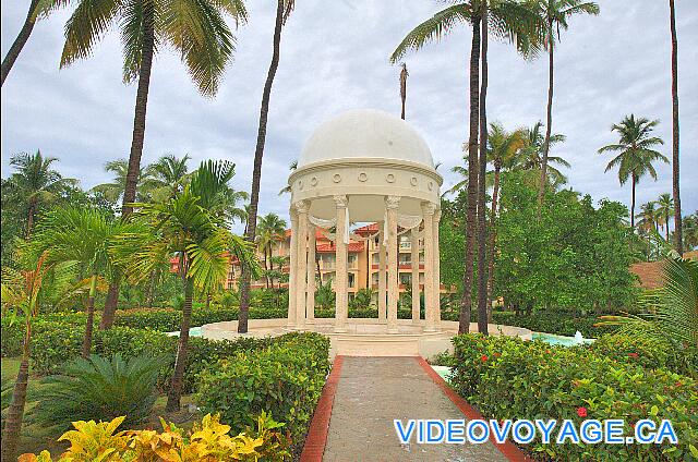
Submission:
[[[488,335],[488,223],[485,174],[488,169],[488,2],[482,2],[482,76],[480,82],[480,159],[478,181],[478,331]]]

